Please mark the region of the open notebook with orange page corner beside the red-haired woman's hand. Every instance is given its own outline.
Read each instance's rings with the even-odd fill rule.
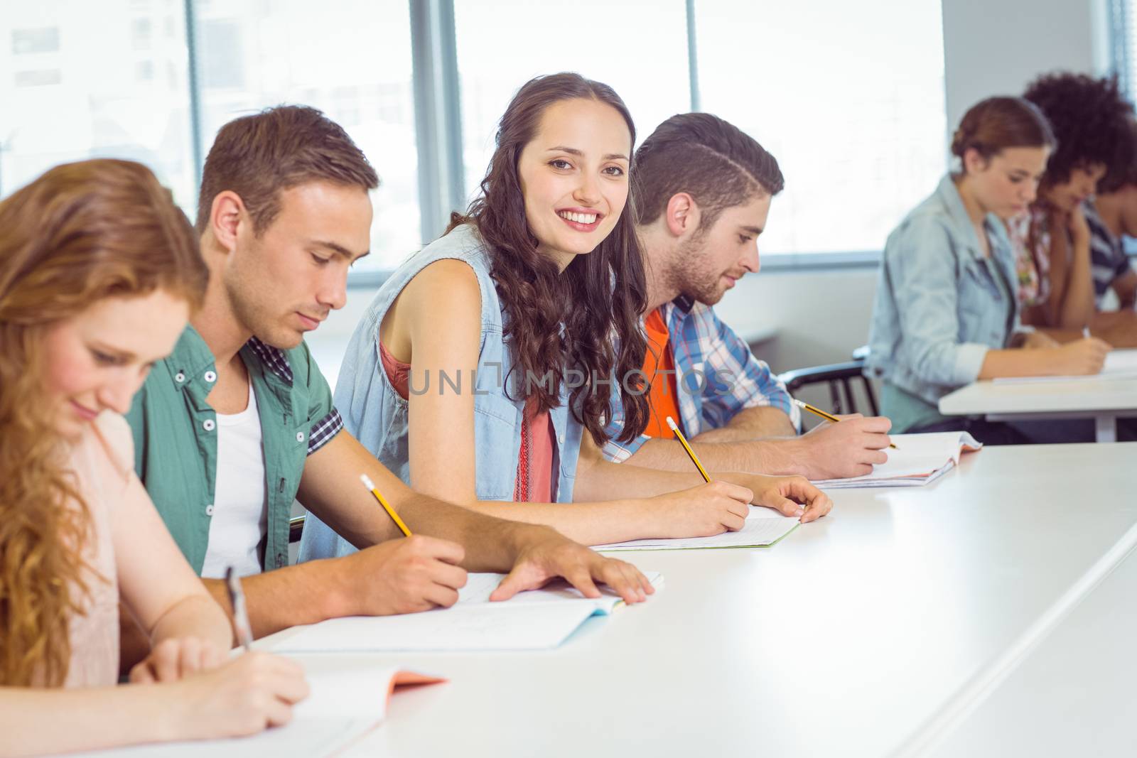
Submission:
[[[343,750],[387,716],[396,690],[445,680],[367,666],[341,656],[297,657],[304,664],[310,692],[297,703],[292,720],[251,736],[142,744],[73,753],[84,758],[323,758]]]

